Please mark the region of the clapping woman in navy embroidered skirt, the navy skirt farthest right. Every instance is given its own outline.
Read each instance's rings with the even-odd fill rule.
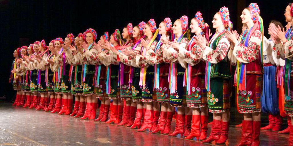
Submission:
[[[170,86],[170,104],[178,108],[176,117],[176,128],[169,136],[188,136],[190,134],[192,112],[186,107],[185,87],[183,87],[183,74],[185,72],[185,64],[178,62],[178,52],[175,49],[186,49],[189,42],[188,17],[182,16],[173,24],[173,34],[175,39],[168,42],[170,48],[163,51],[164,62],[170,63],[169,86]]]

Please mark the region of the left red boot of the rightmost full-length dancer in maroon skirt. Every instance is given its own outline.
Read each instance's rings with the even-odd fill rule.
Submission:
[[[237,146],[251,145],[252,143],[252,121],[242,121],[241,141]]]

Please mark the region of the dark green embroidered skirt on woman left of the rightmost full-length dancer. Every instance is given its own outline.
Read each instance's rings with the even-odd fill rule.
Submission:
[[[221,113],[230,109],[230,80],[213,78],[210,80],[210,90],[207,92],[209,112]]]

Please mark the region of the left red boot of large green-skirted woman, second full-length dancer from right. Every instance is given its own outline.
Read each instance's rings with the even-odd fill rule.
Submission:
[[[214,119],[213,124],[212,124],[212,131],[209,134],[209,138],[207,138],[206,140],[202,140],[202,142],[203,143],[211,143],[214,140],[217,142],[220,137],[221,128],[222,128],[222,121]]]

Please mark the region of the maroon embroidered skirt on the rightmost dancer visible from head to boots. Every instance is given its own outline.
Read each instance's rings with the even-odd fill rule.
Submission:
[[[246,74],[246,90],[238,92],[238,109],[240,113],[261,111],[262,77],[257,74]]]

